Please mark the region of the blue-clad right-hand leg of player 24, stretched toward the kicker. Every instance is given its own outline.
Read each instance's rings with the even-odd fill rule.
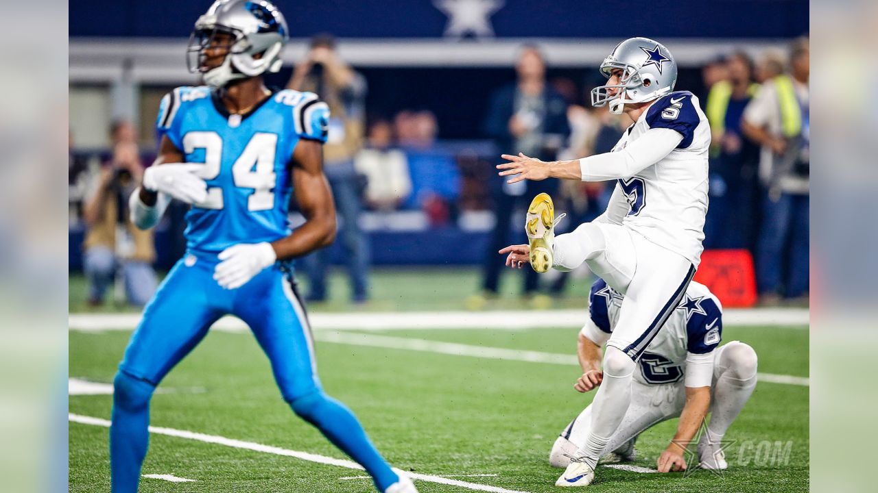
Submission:
[[[323,391],[305,307],[286,275],[267,268],[238,289],[237,299],[234,313],[253,329],[292,411],[360,463],[379,491],[414,492],[410,480],[378,453],[354,413]]]

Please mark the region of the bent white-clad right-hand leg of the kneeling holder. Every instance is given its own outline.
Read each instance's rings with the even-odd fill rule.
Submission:
[[[720,442],[756,388],[756,371],[756,352],[745,343],[733,340],[716,349],[710,424],[698,441],[701,468],[728,468]]]

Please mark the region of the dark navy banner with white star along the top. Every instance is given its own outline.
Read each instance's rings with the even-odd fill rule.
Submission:
[[[186,36],[209,1],[70,0],[74,37]],[[781,39],[807,33],[806,0],[277,0],[293,38]],[[626,13],[636,14],[626,16]]]

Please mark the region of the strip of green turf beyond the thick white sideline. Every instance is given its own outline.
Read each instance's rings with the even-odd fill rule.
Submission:
[[[496,299],[487,300],[486,310],[528,308],[522,304],[522,271],[507,271],[500,278],[500,292]],[[311,311],[435,311],[470,308],[467,298],[479,294],[481,276],[476,268],[376,268],[371,274],[370,301],[366,304],[349,303],[348,277],[333,269],[328,277],[327,302],[309,304]],[[429,281],[429,282],[426,282]],[[307,292],[307,278],[299,276],[302,292]],[[565,287],[565,296],[552,302],[554,308],[582,308],[586,306],[592,279],[571,279]],[[83,275],[70,275],[69,308],[76,312],[138,311],[118,301],[110,293],[105,304],[91,307],[85,303],[87,283]]]

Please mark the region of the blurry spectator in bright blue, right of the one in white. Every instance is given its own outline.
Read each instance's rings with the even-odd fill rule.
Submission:
[[[461,188],[457,161],[435,146],[439,127],[432,111],[401,111],[395,120],[412,180],[406,206],[426,212],[430,225],[445,225],[457,217]]]

